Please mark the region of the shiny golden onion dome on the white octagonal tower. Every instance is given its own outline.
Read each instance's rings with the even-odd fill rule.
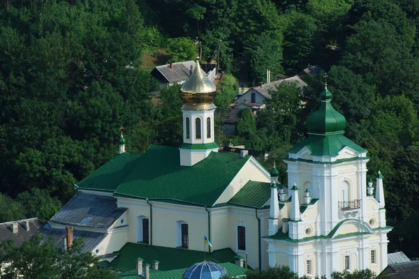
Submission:
[[[214,102],[215,91],[215,85],[208,77],[205,77],[197,60],[192,75],[180,88],[184,103],[187,105],[211,104]]]

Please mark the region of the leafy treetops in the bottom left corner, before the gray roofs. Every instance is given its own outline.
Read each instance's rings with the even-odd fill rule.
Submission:
[[[41,234],[24,241],[20,247],[13,241],[3,241],[0,264],[4,269],[0,275],[2,278],[116,278],[110,269],[99,267],[98,257],[91,252],[82,252],[83,246],[80,239],[75,239],[71,248],[60,255],[54,242],[43,241]]]

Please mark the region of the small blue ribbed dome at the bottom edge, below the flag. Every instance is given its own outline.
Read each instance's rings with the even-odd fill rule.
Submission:
[[[226,269],[215,262],[198,262],[189,267],[182,279],[219,279],[228,275]]]

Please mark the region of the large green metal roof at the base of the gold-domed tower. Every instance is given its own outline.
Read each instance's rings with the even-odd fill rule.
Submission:
[[[152,145],[135,162],[115,194],[212,206],[249,158],[212,152],[196,165],[182,167],[179,149]]]

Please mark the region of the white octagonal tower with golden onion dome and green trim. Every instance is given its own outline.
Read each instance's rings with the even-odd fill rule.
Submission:
[[[192,166],[217,152],[214,142],[214,98],[216,86],[205,77],[199,61],[191,77],[182,84],[180,93],[184,100],[183,144],[179,146],[180,165]]]

